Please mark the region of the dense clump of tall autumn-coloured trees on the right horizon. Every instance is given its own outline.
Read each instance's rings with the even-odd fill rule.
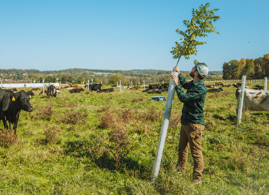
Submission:
[[[269,54],[256,59],[242,58],[224,62],[222,69],[223,79],[238,79],[243,75],[248,79],[263,79],[269,76]]]

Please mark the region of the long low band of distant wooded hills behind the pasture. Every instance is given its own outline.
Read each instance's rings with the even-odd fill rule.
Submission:
[[[101,72],[101,73],[100,73]],[[181,71],[186,76],[186,79],[191,79],[190,71]],[[121,80],[124,85],[133,85],[143,83],[157,83],[169,82],[171,70],[99,70],[99,69],[83,69],[72,68],[66,70],[23,70],[23,69],[0,69],[1,79],[13,79],[16,82],[73,82],[73,83],[103,83],[103,84],[117,84]],[[214,75],[221,75],[221,71],[212,71]],[[210,76],[209,76],[210,77]],[[209,78],[208,77],[208,78]],[[9,81],[3,81],[9,82]]]

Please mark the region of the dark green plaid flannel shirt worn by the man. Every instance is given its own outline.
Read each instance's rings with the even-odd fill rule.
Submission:
[[[203,105],[206,98],[206,85],[203,79],[197,82],[186,81],[182,74],[179,74],[180,85],[187,89],[186,93],[182,90],[180,85],[176,85],[175,90],[179,101],[183,102],[181,124],[201,124],[205,125],[203,120]]]

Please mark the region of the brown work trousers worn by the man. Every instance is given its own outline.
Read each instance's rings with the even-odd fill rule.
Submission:
[[[181,125],[179,137],[179,159],[178,165],[183,169],[186,168],[188,159],[188,148],[190,146],[191,156],[193,158],[194,179],[200,180],[203,171],[203,154],[201,150],[202,132],[204,126],[201,124]]]

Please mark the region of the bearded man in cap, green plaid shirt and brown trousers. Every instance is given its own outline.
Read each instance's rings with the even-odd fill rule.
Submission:
[[[185,77],[180,74],[178,68],[173,69],[178,72],[179,76],[172,75],[172,79],[176,84],[176,93],[179,101],[183,102],[181,129],[179,137],[179,158],[177,167],[182,170],[186,169],[188,158],[188,147],[191,149],[193,158],[193,183],[202,184],[203,171],[203,154],[201,150],[202,132],[204,129],[203,120],[203,105],[206,97],[206,85],[203,83],[203,78],[208,74],[208,67],[205,63],[199,63],[194,60],[195,66],[192,68],[190,76],[191,81],[186,81]],[[181,85],[181,86],[180,86]],[[186,93],[182,87],[187,89]]]

